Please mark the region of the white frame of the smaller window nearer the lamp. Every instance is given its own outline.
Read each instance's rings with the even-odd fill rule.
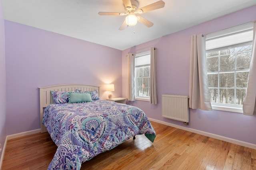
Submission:
[[[137,96],[137,90],[138,90],[138,86],[137,86],[137,69],[136,68],[140,68],[140,67],[146,67],[146,66],[149,66],[150,67],[150,58],[149,58],[149,61],[147,61],[146,63],[147,64],[142,64],[142,65],[140,65],[140,66],[136,66],[136,58],[138,58],[138,57],[143,57],[143,56],[146,56],[146,55],[151,55],[150,54],[150,50],[146,50],[146,51],[142,51],[142,52],[139,52],[139,53],[136,53],[135,54],[135,70],[134,70],[134,73],[135,73],[135,76],[134,76],[134,84],[135,84],[135,100],[142,100],[142,101],[146,101],[146,102],[150,102],[150,96],[148,96],[148,97],[143,97],[143,96]],[[148,62],[149,62],[149,64],[148,64]],[[148,90],[150,90],[150,72],[149,72],[149,76],[148,76],[148,78],[149,78],[149,89]],[[149,93],[150,93],[150,91],[149,91]]]

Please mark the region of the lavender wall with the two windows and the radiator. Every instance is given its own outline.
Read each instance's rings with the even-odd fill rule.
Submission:
[[[128,104],[142,108],[148,117],[183,125],[180,121],[166,119],[161,116],[162,94],[189,94],[189,67],[190,67],[190,37],[194,34],[207,34],[221,29],[233,27],[256,19],[256,6],[217,18],[215,20],[190,27],[188,29],[166,35],[159,39],[137,45],[122,51],[122,94],[126,96],[127,88],[127,58],[128,53],[145,49],[151,46],[157,48],[157,93],[158,104],[135,101]],[[226,111],[202,111],[190,109],[189,125],[192,129],[221,135],[224,137],[256,144],[256,116],[246,116],[241,113]]]

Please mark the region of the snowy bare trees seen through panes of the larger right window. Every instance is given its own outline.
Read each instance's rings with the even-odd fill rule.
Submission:
[[[237,45],[206,53],[210,100],[216,104],[244,102],[252,45]]]

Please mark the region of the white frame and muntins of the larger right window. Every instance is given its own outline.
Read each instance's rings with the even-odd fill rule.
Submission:
[[[226,35],[230,35],[230,34],[236,34],[236,33],[242,33],[244,31],[252,31],[253,30],[253,25],[252,23],[247,23],[244,25],[238,25],[237,27],[232,27],[229,29],[224,29],[215,33],[210,34],[209,36],[206,36],[206,41],[210,40],[210,39],[216,39],[218,37],[225,37]],[[252,45],[252,41],[247,41],[245,40],[242,43],[236,43],[234,45],[229,45],[229,46],[221,46],[221,47],[217,47],[216,49],[207,49],[207,43],[206,43],[206,53],[209,52],[213,52],[213,51],[221,51],[223,49],[229,49],[229,48],[234,48],[234,47],[241,47],[241,46],[246,46],[246,45]],[[220,55],[218,56],[220,57]],[[208,59],[208,58],[206,58]],[[235,59],[236,61],[236,59]],[[235,63],[235,69],[234,70],[226,70],[226,71],[220,71],[220,58],[218,59],[218,71],[211,71],[211,72],[207,72],[207,74],[218,74],[218,81],[220,80],[219,75],[222,73],[234,73],[234,99],[236,101],[236,89],[246,89],[246,88],[237,88],[236,87],[236,72],[248,72],[249,69],[242,69],[242,70],[237,70],[236,69],[236,63]],[[214,87],[216,88],[216,87]],[[211,89],[211,87],[209,87],[209,89]],[[213,88],[212,88],[213,89]],[[219,82],[218,82],[218,91],[221,89],[219,87]],[[218,94],[220,94],[218,92]],[[218,95],[218,100],[220,99],[219,95]],[[222,111],[230,111],[230,112],[236,112],[236,113],[243,113],[243,109],[242,109],[242,105],[238,105],[236,104],[223,104],[223,103],[215,103],[215,102],[211,102],[212,104],[212,109],[215,110],[222,110]]]

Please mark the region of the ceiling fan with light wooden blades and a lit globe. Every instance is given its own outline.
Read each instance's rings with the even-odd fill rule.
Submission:
[[[119,30],[123,30],[126,25],[134,26],[137,21],[143,23],[147,27],[152,27],[154,23],[142,18],[141,16],[136,16],[135,14],[143,14],[145,12],[149,12],[152,10],[156,10],[164,7],[164,1],[160,0],[158,2],[152,3],[148,6],[144,6],[138,9],[138,1],[137,0],[123,0],[125,11],[124,12],[99,12],[98,14],[101,16],[126,16],[124,22],[120,26]]]

